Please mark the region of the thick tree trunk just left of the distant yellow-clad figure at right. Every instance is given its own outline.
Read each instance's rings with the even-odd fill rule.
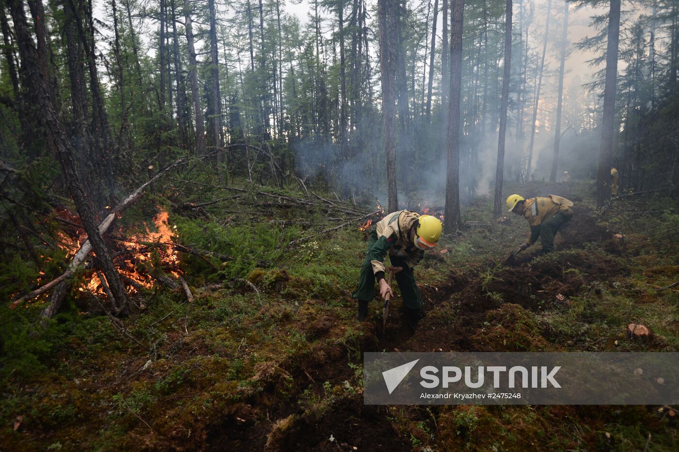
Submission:
[[[597,206],[603,207],[610,198],[610,164],[615,135],[615,90],[618,76],[618,43],[620,39],[620,0],[610,0],[608,42],[606,43],[606,86],[604,87],[604,117],[601,124],[601,150],[596,178]]]

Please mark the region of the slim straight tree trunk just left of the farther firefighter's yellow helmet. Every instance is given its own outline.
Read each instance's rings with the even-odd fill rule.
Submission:
[[[500,216],[504,211],[504,202],[502,200],[502,180],[504,178],[504,136],[507,132],[507,104],[509,103],[509,82],[511,77],[511,26],[512,0],[507,0],[504,13],[504,72],[502,73],[502,100],[500,101],[498,164],[495,170],[495,199],[493,203],[494,216]]]

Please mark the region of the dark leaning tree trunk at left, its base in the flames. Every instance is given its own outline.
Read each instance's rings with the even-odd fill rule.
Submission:
[[[117,305],[120,308],[124,308],[127,306],[125,288],[123,287],[122,282],[120,282],[120,276],[115,270],[109,250],[99,234],[94,209],[90,204],[88,195],[81,185],[79,174],[75,166],[73,158],[75,151],[73,150],[73,147],[71,147],[71,142],[67,137],[66,129],[58,119],[58,115],[54,110],[52,100],[50,99],[50,92],[47,88],[47,81],[43,79],[39,70],[39,62],[35,54],[35,48],[33,48],[33,39],[29,34],[26,17],[24,16],[23,3],[21,0],[10,0],[9,5],[10,12],[12,13],[12,20],[14,22],[14,31],[16,33],[19,52],[27,71],[29,86],[35,95],[35,100],[38,104],[37,107],[39,107],[43,113],[42,115],[39,115],[40,121],[48,130],[48,133],[52,136],[56,145],[58,159],[64,172],[66,183],[73,196],[73,201],[75,202],[83,227],[88,234],[88,239],[92,244],[92,249],[96,253],[94,260],[97,266],[104,271],[106,280],[111,288],[111,293],[115,299],[111,300],[111,302],[114,306]]]

